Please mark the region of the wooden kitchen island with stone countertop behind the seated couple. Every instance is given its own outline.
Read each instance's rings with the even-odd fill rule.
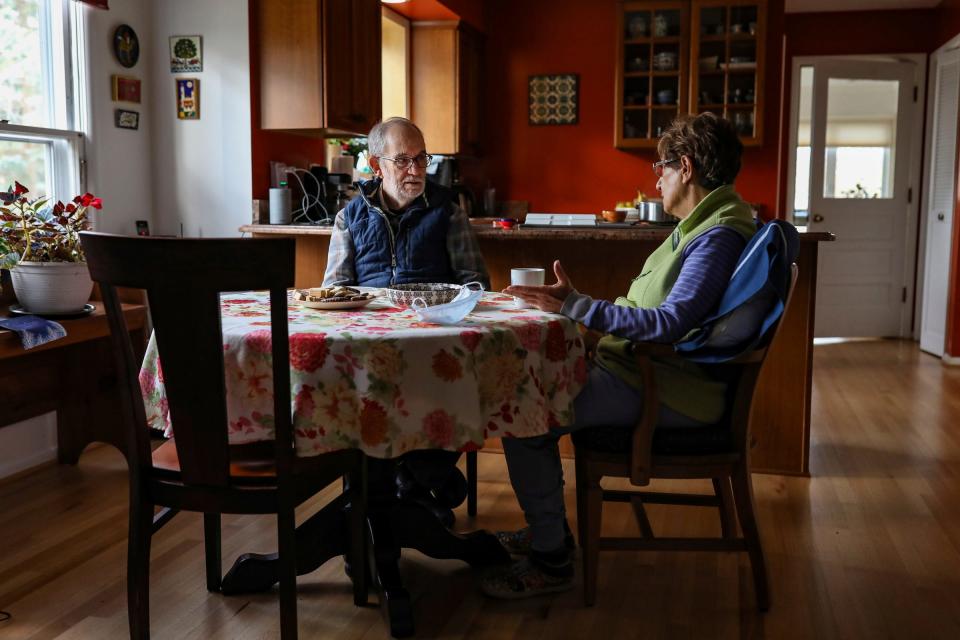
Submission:
[[[320,286],[330,244],[329,227],[246,225],[240,230],[254,236],[296,238],[296,286]],[[508,230],[493,228],[486,221],[477,222],[474,231],[494,290],[510,284],[513,267],[543,267],[551,272],[553,261],[559,259],[579,291],[613,300],[626,293],[644,260],[673,227]],[[809,473],[817,255],[819,243],[832,241],[834,236],[800,231],[797,288],[784,319],[783,339],[767,358],[754,400],[751,455],[758,472]],[[548,275],[547,280],[552,277]]]

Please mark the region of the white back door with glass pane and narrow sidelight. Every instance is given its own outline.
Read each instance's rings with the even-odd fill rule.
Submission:
[[[808,230],[836,235],[820,247],[816,335],[906,335],[915,65],[832,59],[804,71],[795,202],[805,187]]]

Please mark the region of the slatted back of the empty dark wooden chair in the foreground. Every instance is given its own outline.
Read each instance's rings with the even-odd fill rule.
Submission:
[[[220,294],[270,293],[277,474],[293,460],[287,288],[294,283],[295,241],[181,239],[81,234],[87,264],[99,283],[120,354],[121,388],[131,466],[152,468],[150,437],[134,358],[120,313],[118,287],[146,292],[163,372],[171,424],[185,484],[230,485]]]

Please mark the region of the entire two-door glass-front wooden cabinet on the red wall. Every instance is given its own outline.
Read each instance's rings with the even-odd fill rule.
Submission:
[[[681,113],[729,119],[762,143],[766,0],[619,3],[614,142],[656,147]]]

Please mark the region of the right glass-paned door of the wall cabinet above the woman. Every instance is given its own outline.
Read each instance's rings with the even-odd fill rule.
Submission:
[[[763,142],[766,25],[766,0],[693,2],[690,111],[723,114],[747,146]]]

